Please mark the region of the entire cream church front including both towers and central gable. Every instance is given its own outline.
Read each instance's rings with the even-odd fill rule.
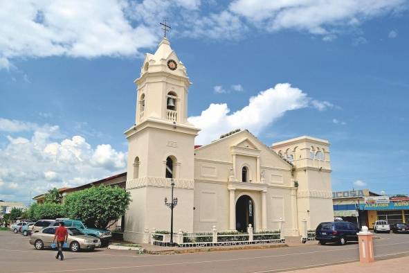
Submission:
[[[199,128],[188,122],[190,80],[164,38],[147,53],[135,80],[136,121],[128,139],[125,240],[143,242],[147,230],[170,230],[170,184],[178,204],[174,231],[279,229],[299,236],[302,220],[315,229],[333,220],[329,142],[300,136],[272,147],[248,130],[194,146]]]

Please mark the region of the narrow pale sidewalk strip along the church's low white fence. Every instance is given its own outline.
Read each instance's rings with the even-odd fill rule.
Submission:
[[[196,252],[218,252],[229,250],[242,250],[242,249],[267,249],[275,247],[288,247],[287,244],[262,244],[262,245],[224,245],[217,247],[161,247],[151,244],[139,244],[144,249],[145,254],[183,254],[183,253],[196,253]]]

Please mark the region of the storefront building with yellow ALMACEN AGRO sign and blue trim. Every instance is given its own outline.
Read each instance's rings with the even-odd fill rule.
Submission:
[[[365,188],[358,191],[337,191],[332,194],[334,217],[373,228],[376,220],[389,224],[409,221],[409,197],[390,197]]]

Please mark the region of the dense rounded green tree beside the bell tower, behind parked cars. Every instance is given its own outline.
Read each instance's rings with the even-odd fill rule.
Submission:
[[[125,214],[130,202],[130,194],[124,188],[99,186],[66,195],[65,206],[69,218],[105,229],[109,222]]]

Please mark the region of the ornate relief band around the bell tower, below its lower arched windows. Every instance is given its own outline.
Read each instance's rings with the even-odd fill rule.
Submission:
[[[194,189],[193,179],[173,179],[174,188]],[[127,181],[127,190],[134,188],[156,187],[170,188],[170,178],[165,177],[140,177]]]

